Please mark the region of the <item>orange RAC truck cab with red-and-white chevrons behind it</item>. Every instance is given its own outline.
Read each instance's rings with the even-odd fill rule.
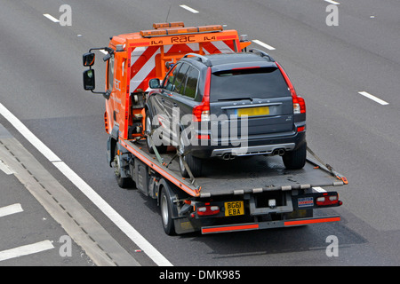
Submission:
[[[167,62],[176,63],[188,53],[241,52],[249,44],[239,41],[236,30],[223,30],[219,25],[184,28],[182,22],[158,23],[150,30],[113,36],[108,45],[115,51],[114,61],[108,60],[108,67],[114,65],[112,91],[106,100],[108,134],[117,124],[120,138],[143,136],[145,114],[140,101],[150,79],[164,79]],[[107,75],[106,90],[108,85]]]

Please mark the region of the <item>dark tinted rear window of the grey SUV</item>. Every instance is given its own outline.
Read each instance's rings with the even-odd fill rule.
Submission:
[[[212,73],[210,100],[270,99],[291,96],[277,67],[233,69]]]

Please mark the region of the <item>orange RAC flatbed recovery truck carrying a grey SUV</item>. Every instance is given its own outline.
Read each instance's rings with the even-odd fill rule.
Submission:
[[[150,154],[143,125],[149,80],[163,80],[169,67],[188,53],[242,52],[251,42],[220,25],[185,28],[182,22],[113,36],[107,47],[84,53],[84,89],[106,99],[107,155],[120,187],[136,187],[155,199],[164,232],[228,233],[340,221],[314,217],[315,209],[342,204],[336,187],[346,177],[308,149],[301,170],[286,170],[276,156],[204,162],[202,177],[180,175],[179,153]],[[94,91],[95,50],[106,52],[106,88]],[[262,51],[260,51],[263,53]]]

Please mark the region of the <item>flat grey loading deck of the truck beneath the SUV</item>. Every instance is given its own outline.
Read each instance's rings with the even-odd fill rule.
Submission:
[[[166,154],[160,154],[163,162],[169,164],[166,168],[157,162],[156,154],[148,152],[146,141],[124,142],[143,155],[145,160],[142,161],[151,162],[154,170],[157,171],[158,167],[165,170],[182,185],[196,192],[192,195],[198,197],[344,185],[342,180],[314,160],[308,159],[301,170],[286,170],[281,157],[264,155],[238,157],[231,161],[205,160],[203,176],[196,177],[196,184],[192,184],[188,178],[180,176],[179,158],[174,158],[174,147],[170,146]]]

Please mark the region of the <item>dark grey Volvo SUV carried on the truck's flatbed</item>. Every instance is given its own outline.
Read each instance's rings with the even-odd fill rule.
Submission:
[[[147,95],[148,150],[176,146],[180,172],[201,175],[204,159],[276,155],[287,169],[306,162],[306,105],[280,65],[259,50],[187,54]]]

